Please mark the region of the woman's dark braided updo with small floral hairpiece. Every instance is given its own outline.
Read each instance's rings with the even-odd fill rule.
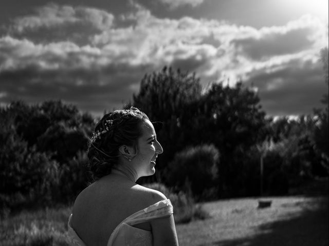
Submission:
[[[131,107],[105,114],[95,127],[88,145],[89,170],[94,181],[111,173],[118,164],[119,147],[137,148],[141,125],[149,119],[139,109]]]

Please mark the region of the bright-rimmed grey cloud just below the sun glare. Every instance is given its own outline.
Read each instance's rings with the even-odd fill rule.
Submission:
[[[268,59],[271,56],[298,53],[314,46],[320,48],[327,39],[324,28],[318,18],[303,16],[286,26],[262,28],[250,37],[238,37],[232,42],[253,60]]]

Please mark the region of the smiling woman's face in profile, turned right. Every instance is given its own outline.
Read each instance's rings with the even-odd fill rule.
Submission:
[[[135,157],[136,168],[140,176],[150,176],[155,173],[155,160],[163,150],[156,139],[155,130],[150,120],[145,120],[141,126],[141,131],[142,135],[138,138],[138,154]]]

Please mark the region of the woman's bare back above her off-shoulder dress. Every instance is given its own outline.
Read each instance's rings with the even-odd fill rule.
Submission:
[[[161,193],[136,185],[117,175],[108,175],[77,197],[71,225],[87,245],[106,245],[125,218],[166,199]],[[150,222],[134,227],[151,231]]]

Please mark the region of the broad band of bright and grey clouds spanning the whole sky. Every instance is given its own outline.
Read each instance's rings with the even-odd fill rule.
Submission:
[[[159,18],[134,6],[122,16],[122,26],[102,10],[53,4],[16,18],[21,36],[0,37],[1,103],[62,98],[101,114],[129,100],[145,73],[166,65],[196,72],[204,85],[225,77],[232,84],[239,78],[252,82],[269,114],[310,112],[321,97],[324,83],[316,63],[327,43],[326,27],[314,17],[255,29],[192,17]],[[40,42],[36,29],[51,38]],[[80,30],[84,36],[76,37]],[[307,87],[314,88],[312,100]],[[298,108],[299,101],[309,108]]]

